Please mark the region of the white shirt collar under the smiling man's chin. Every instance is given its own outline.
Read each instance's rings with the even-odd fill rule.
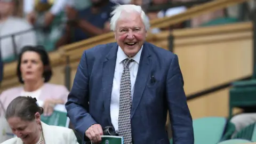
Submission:
[[[135,62],[137,62],[138,64],[140,63],[140,55],[141,55],[142,49],[143,49],[143,45],[141,46],[140,51],[136,55],[134,55],[134,57],[131,58]],[[129,58],[129,57],[127,57],[127,55],[124,53],[124,51],[121,49],[121,47],[118,46],[118,50],[117,50],[117,61],[118,61],[118,63],[121,63],[123,60],[125,60],[127,58]]]

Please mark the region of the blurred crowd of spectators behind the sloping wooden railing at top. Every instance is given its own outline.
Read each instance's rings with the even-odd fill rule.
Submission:
[[[43,45],[47,52],[58,47],[108,33],[110,12],[116,4],[141,5],[148,19],[170,17],[185,12],[178,6],[147,11],[150,5],[192,0],[0,0],[0,50],[4,62],[13,61],[26,45]],[[191,27],[223,17],[223,10],[190,21]],[[184,23],[172,28],[183,28]],[[162,29],[151,29],[159,33]]]

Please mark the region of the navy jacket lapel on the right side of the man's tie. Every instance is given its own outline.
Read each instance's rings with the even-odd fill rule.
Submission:
[[[137,109],[143,91],[145,89],[147,78],[150,73],[150,65],[151,65],[151,59],[150,59],[150,47],[147,43],[143,45],[143,49],[141,52],[141,60],[139,64],[139,69],[134,85],[134,93],[133,93],[133,100],[132,100],[132,112],[131,112],[131,118],[133,117],[135,110]]]

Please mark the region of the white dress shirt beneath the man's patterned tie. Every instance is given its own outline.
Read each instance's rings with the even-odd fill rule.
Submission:
[[[134,61],[130,63],[130,77],[131,77],[131,92],[133,97],[134,92],[134,84],[138,73],[139,63],[140,63],[140,55],[143,46],[140,51],[132,58]],[[119,97],[120,97],[120,83],[121,77],[123,73],[123,60],[125,60],[127,55],[123,52],[120,46],[118,46],[117,50],[117,58],[116,58],[116,67],[115,74],[113,79],[112,93],[111,93],[111,101],[110,101],[110,117],[111,123],[113,124],[115,131],[118,133],[118,115],[119,115]]]

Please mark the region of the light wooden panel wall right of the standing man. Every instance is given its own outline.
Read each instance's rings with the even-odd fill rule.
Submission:
[[[186,94],[252,75],[251,23],[173,32]],[[193,118],[228,116],[229,89],[188,101]]]

